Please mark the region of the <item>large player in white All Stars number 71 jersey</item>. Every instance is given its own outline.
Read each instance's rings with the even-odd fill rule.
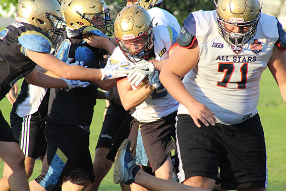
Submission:
[[[211,190],[219,167],[221,188],[266,190],[259,80],[268,67],[286,102],[285,31],[275,17],[261,13],[258,0],[219,0],[216,6],[186,18],[179,47],[160,74],[181,103],[178,176]]]

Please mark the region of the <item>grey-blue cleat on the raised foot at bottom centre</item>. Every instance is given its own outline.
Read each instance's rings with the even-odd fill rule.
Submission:
[[[130,146],[130,140],[125,139],[116,154],[113,171],[113,182],[116,184],[131,184],[134,182],[136,173],[140,170],[140,166],[135,164]]]

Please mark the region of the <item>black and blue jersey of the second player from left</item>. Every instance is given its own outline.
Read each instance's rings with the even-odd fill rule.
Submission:
[[[88,28],[98,30],[94,27]],[[86,27],[82,27],[74,33],[82,33],[83,29],[86,31]],[[84,66],[88,68],[100,68],[100,63],[103,62],[103,55],[105,54],[106,51],[88,45],[77,35],[74,38],[64,40],[55,56],[63,61],[68,58],[84,61]],[[97,87],[93,84],[69,91],[64,88],[50,89],[46,121],[55,124],[89,126],[96,104],[96,93]]]

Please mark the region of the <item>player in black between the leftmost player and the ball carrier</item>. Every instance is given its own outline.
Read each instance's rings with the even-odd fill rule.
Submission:
[[[109,51],[112,52],[115,45],[110,42],[108,49],[104,50],[107,46],[92,47],[83,39],[91,34],[108,39],[107,35],[112,34],[113,22],[109,20],[109,9],[105,3],[102,0],[71,0],[63,6],[63,13],[67,27],[74,29],[73,37],[65,39],[59,45],[55,56],[62,61],[67,61],[68,58],[82,60],[83,66],[87,68],[104,67],[103,56]],[[45,127],[47,157],[44,158],[41,174],[35,179],[42,187],[41,189],[56,190],[63,187],[64,190],[71,188],[82,190],[94,181],[88,147],[89,126],[96,104],[97,88],[108,90],[116,84],[116,80],[91,80],[90,82],[92,84],[85,88],[74,88],[69,91],[64,88],[50,90]],[[76,141],[75,137],[77,137]],[[65,157],[60,156],[59,152]],[[53,162],[59,157],[65,161],[65,164],[59,165]],[[58,171],[48,172],[49,169],[54,168]],[[47,176],[50,178],[47,179]],[[67,177],[69,181],[62,186]]]

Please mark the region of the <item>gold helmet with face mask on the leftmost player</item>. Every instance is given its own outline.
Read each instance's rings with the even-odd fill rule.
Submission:
[[[32,24],[47,34],[52,43],[54,34],[62,35],[60,31],[63,18],[60,10],[60,4],[56,0],[19,0],[16,18],[21,22]],[[60,37],[56,37],[58,39]]]

